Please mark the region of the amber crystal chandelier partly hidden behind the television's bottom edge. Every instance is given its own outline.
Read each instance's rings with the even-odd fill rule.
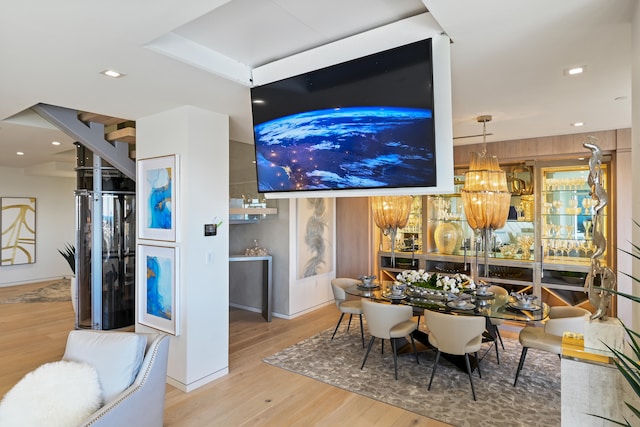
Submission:
[[[398,229],[406,227],[411,213],[411,196],[374,196],[371,209],[376,226],[391,239],[391,267],[396,265],[395,247]]]

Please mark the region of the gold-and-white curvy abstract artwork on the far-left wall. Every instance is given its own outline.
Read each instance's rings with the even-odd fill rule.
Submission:
[[[36,198],[0,198],[2,260],[0,265],[36,262]]]

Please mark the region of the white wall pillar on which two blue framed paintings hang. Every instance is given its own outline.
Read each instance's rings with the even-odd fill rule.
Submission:
[[[188,392],[229,369],[229,119],[183,106],[139,119],[136,129],[138,160],[175,154],[179,162],[176,241],[138,238],[138,244],[178,249],[178,335],[171,338],[167,375]],[[205,236],[205,224],[216,217],[217,234]],[[138,272],[146,268],[141,264],[137,259]],[[136,331],[153,329],[136,318]]]

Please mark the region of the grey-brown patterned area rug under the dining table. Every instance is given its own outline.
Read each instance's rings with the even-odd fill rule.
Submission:
[[[420,365],[413,354],[400,355],[395,381],[388,342],[381,354],[380,340],[376,340],[361,370],[365,350],[359,328],[351,328],[349,334],[338,331],[333,341],[332,332],[323,331],[263,361],[454,426],[560,425],[560,359],[555,354],[529,350],[518,386],[513,387],[522,350],[518,341],[504,340],[499,365],[495,349],[484,344],[482,378],[473,374],[478,399],[474,401],[466,372],[442,358],[427,390],[435,359],[432,350],[420,352]],[[365,339],[368,344],[366,334]]]

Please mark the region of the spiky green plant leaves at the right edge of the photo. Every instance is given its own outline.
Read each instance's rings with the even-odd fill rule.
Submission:
[[[637,221],[633,221],[634,224],[636,225],[636,227],[640,228],[640,224]],[[631,243],[631,247],[632,250],[631,252],[619,249],[621,252],[624,252],[628,255],[630,255],[631,257],[633,257],[634,259],[640,261],[640,246],[634,243]],[[640,278],[637,277],[633,277],[630,274],[627,273],[622,273],[625,276],[631,278],[631,280],[633,280],[634,284],[638,284],[640,283]],[[634,302],[640,302],[640,297],[637,297],[635,295],[629,295],[626,294],[624,292],[618,292],[616,290],[613,289],[605,289],[605,288],[600,288],[597,287],[596,289],[601,289],[601,290],[606,290],[608,292],[611,292],[613,294],[619,295],[623,298],[627,298],[631,301]],[[626,331],[627,335],[629,336],[629,346],[631,347],[631,351],[633,353],[633,356],[631,355],[627,355],[622,351],[616,350],[614,348],[611,348],[607,345],[607,348],[615,355],[614,358],[614,362],[616,367],[618,368],[618,371],[622,374],[622,376],[624,377],[624,379],[627,381],[627,383],[629,383],[629,385],[631,386],[631,389],[633,390],[633,392],[635,393],[636,396],[640,397],[640,342],[638,341],[638,339],[640,339],[640,333],[628,328],[622,321],[620,322],[622,323],[622,327],[624,328],[624,330]],[[606,345],[606,344],[605,344]],[[633,405],[631,405],[629,402],[625,402],[624,403],[627,408],[629,408],[629,410],[638,418],[640,419],[640,409],[634,407]],[[595,414],[591,414],[594,417],[598,417],[598,418],[602,418],[608,421],[611,421],[614,424],[620,425],[620,426],[627,426],[627,427],[631,427],[632,424],[629,423],[629,420],[627,420],[626,418],[624,419],[624,423],[620,422],[620,421],[615,421],[606,417],[602,417],[600,415],[595,415]]]

